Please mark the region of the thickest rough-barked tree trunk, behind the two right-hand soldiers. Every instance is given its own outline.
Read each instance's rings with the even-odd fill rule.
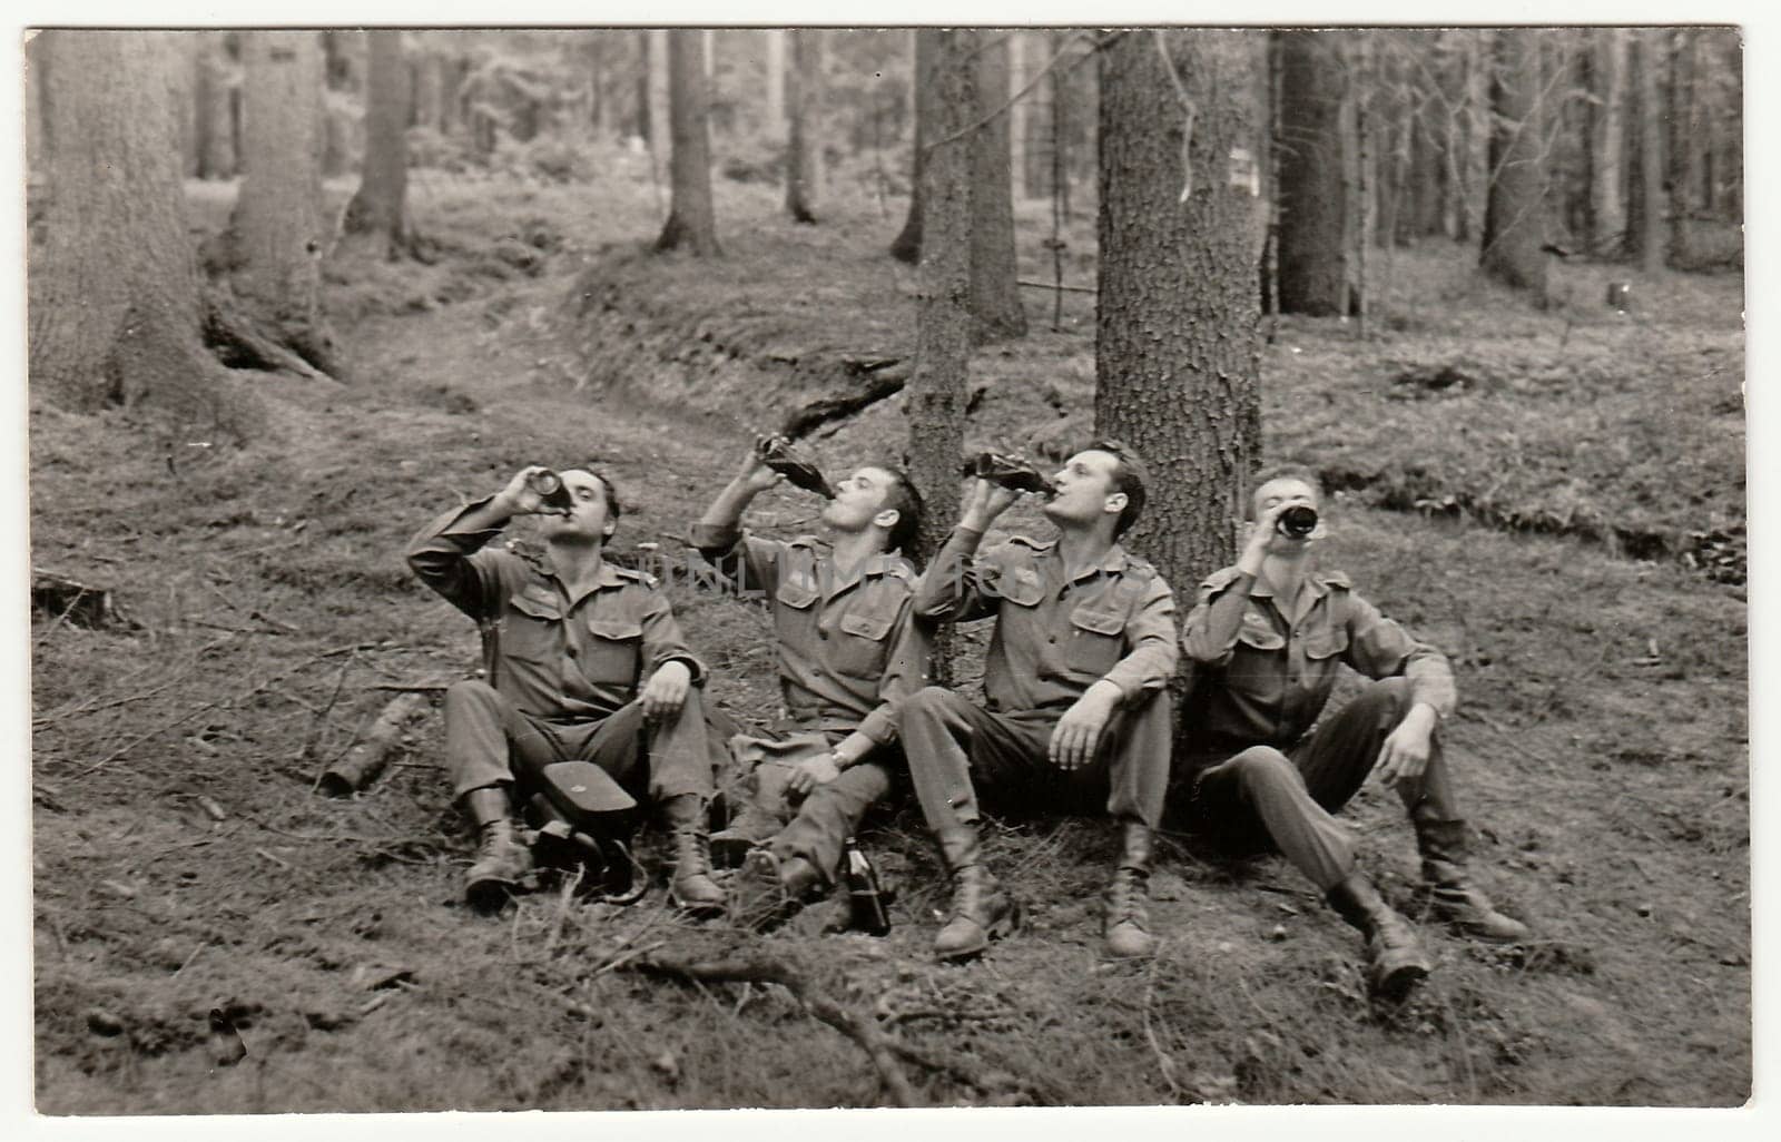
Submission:
[[[1147,458],[1126,543],[1179,593],[1236,556],[1257,460],[1256,212],[1229,157],[1252,139],[1259,36],[1134,32],[1101,57],[1095,435]]]

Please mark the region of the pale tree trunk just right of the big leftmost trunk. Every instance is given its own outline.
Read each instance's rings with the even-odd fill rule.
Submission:
[[[317,32],[246,32],[246,175],[230,217],[232,285],[274,344],[337,369],[322,314],[322,48]]]

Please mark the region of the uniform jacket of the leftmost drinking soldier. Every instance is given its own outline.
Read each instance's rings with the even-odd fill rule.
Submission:
[[[408,565],[477,622],[490,684],[516,709],[561,722],[607,718],[673,659],[703,682],[705,666],[654,577],[604,563],[598,581],[573,595],[541,556],[484,551],[499,531],[458,526],[486,502],[422,527],[408,545]]]

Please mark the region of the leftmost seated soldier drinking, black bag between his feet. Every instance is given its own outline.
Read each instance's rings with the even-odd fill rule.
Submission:
[[[484,631],[486,681],[445,691],[445,764],[481,834],[465,894],[499,905],[531,871],[515,786],[525,793],[543,766],[590,761],[661,809],[675,903],[720,910],[705,848],[705,666],[655,581],[604,558],[622,511],[611,481],[568,469],[568,508],[549,508],[531,483],[543,472],[524,469],[495,495],[445,511],[408,547],[420,581]],[[543,551],[484,551],[515,515],[549,515]]]

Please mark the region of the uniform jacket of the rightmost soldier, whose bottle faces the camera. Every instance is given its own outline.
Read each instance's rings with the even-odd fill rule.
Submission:
[[[1241,622],[1216,629],[1213,608],[1243,590]],[[1427,702],[1443,718],[1453,713],[1453,670],[1446,656],[1354,593],[1341,572],[1311,572],[1309,608],[1288,622],[1273,588],[1227,567],[1200,584],[1183,629],[1195,663],[1195,702],[1188,738],[1208,748],[1272,745],[1289,748],[1311,729],[1336,686],[1338,663],[1370,679],[1405,675],[1411,702]]]

